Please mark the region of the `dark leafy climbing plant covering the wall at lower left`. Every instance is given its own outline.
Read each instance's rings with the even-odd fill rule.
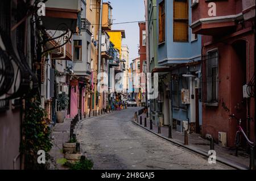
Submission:
[[[49,120],[46,118],[43,108],[40,107],[39,100],[39,96],[26,98],[24,110],[24,121],[22,124],[23,137],[20,151],[25,157],[25,169],[29,170],[47,169],[47,164],[38,163],[38,151],[44,150],[46,152],[46,160],[48,160],[48,151],[52,148],[49,138]]]

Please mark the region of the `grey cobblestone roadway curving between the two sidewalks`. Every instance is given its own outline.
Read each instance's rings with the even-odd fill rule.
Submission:
[[[232,169],[144,131],[131,122],[138,108],[82,121],[77,138],[93,169]]]

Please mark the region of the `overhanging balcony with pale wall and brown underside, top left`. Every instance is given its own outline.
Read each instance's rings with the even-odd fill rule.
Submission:
[[[77,18],[81,11],[80,0],[54,0],[46,2],[46,16],[42,16],[46,30],[59,30],[60,24],[76,32]]]

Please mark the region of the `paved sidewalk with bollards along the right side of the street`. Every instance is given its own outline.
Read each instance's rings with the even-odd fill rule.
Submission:
[[[150,120],[147,119],[147,127],[144,127],[144,118],[146,114],[142,114],[142,125],[139,124],[140,116],[137,120],[133,120],[134,124],[139,125],[140,127],[150,131],[151,133],[156,134],[168,141],[173,142],[176,145],[183,146],[186,149],[195,151],[196,153],[202,154],[205,157],[208,157],[208,151],[210,150],[210,141],[202,138],[199,134],[188,134],[188,145],[184,145],[184,134],[172,130],[172,138],[168,138],[169,127],[161,127],[161,133],[158,134],[157,125],[152,124],[152,130],[150,130]],[[217,161],[224,163],[226,165],[232,166],[236,169],[249,169],[250,156],[243,151],[238,151],[238,157],[235,156],[235,150],[230,148],[223,148],[218,144],[214,144],[214,150],[216,151]]]

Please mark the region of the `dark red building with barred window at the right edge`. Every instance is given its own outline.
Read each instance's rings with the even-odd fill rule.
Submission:
[[[230,114],[255,142],[254,21],[253,0],[193,1],[192,32],[203,35],[202,133],[215,140],[226,133],[227,146],[234,146],[238,125]]]

